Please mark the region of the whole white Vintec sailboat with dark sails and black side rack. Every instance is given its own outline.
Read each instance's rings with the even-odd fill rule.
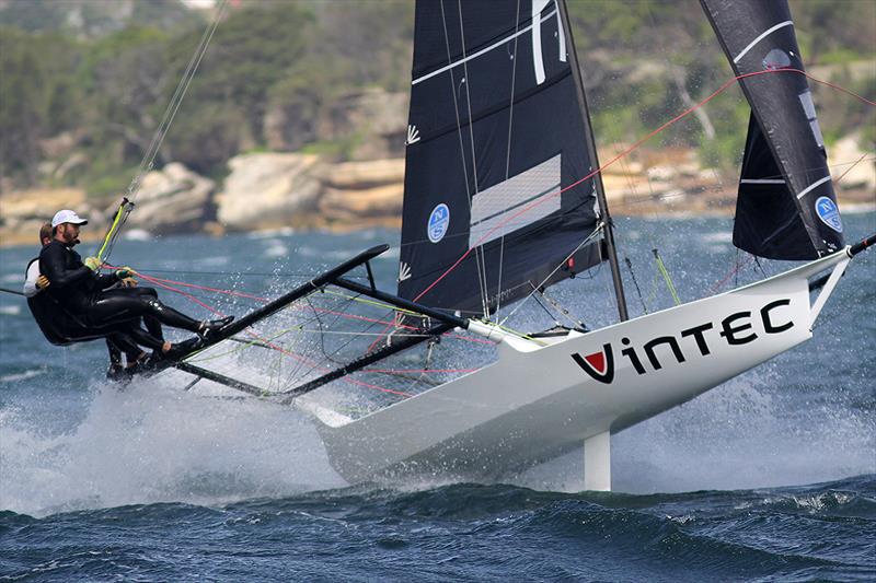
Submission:
[[[374,283],[371,261],[388,249],[376,246],[241,317],[174,366],[193,383],[267,394],[312,413],[332,465],[350,482],[498,480],[583,445],[585,488],[610,490],[613,433],[808,340],[849,263],[874,242],[843,241],[786,2],[701,3],[751,106],[734,244],[805,264],[630,318],[564,1],[423,0],[397,293]],[[615,324],[523,335],[489,319],[603,263]],[[291,384],[219,364],[243,349],[262,351],[264,368],[269,354],[293,357],[302,345],[283,345],[289,326],[260,326],[331,290],[394,310],[393,333],[415,334],[381,338],[334,366],[298,359]],[[495,360],[358,417],[311,398],[461,330],[494,345]]]

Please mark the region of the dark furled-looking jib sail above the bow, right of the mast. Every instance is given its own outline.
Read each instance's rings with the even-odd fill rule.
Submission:
[[[785,0],[701,0],[751,105],[734,244],[772,259],[843,246],[842,221]]]

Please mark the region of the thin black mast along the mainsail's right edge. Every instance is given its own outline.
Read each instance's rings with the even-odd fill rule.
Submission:
[[[557,9],[560,10],[560,15],[563,21],[563,28],[566,34],[566,38],[568,43],[566,44],[568,49],[568,57],[569,57],[569,66],[572,69],[572,77],[575,80],[575,90],[578,94],[578,106],[581,109],[581,117],[584,118],[584,123],[586,128],[590,129],[590,131],[585,131],[585,141],[587,143],[587,152],[592,161],[592,164],[596,168],[599,167],[599,158],[597,156],[596,151],[596,141],[593,138],[592,126],[590,125],[590,112],[587,108],[587,97],[584,92],[584,80],[581,79],[581,70],[578,66],[578,54],[575,49],[575,39],[572,36],[572,23],[568,20],[568,10],[566,9],[566,0],[556,0]],[[614,284],[614,295],[618,299],[618,315],[620,316],[620,320],[630,319],[630,314],[626,310],[626,298],[623,293],[623,280],[621,279],[621,267],[618,264],[618,250],[614,246],[614,224],[611,220],[611,214],[609,213],[609,203],[606,200],[606,190],[602,186],[602,174],[597,173],[593,175],[593,185],[596,186],[596,198],[599,201],[599,207],[602,210],[602,220],[604,221],[604,232],[606,232],[606,250],[609,254],[609,265],[611,266],[611,280]]]

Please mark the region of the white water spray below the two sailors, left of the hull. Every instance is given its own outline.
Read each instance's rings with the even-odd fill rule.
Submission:
[[[27,424],[22,413],[0,415],[3,510],[214,505],[344,486],[307,418],[266,401],[198,396],[151,378],[96,387],[70,432]]]

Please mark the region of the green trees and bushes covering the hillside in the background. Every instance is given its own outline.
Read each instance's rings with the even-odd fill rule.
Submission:
[[[699,2],[568,4],[600,147],[641,138],[731,77]],[[873,66],[863,75],[844,68],[876,55],[876,2],[848,0],[837,10],[833,0],[792,0],[792,10],[810,68],[831,66],[839,84],[872,96]],[[219,177],[246,151],[353,155],[361,132],[330,137],[324,127],[353,93],[407,90],[413,11],[407,0],[237,3],[157,164],[180,161]],[[76,184],[94,196],[124,189],[206,25],[177,0],[0,4],[0,176],[21,187]],[[872,108],[814,90],[826,139],[864,128],[876,140]],[[711,163],[733,167],[748,125],[740,92],[704,112],[648,147],[698,145]],[[77,155],[82,162],[69,163]]]

